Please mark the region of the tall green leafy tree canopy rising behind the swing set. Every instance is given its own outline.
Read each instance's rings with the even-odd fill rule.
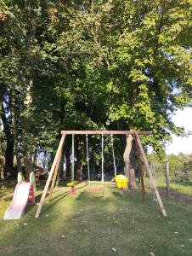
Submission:
[[[51,152],[65,129],[153,131],[142,140],[159,152],[183,132],[172,114],[191,99],[189,0],[3,0],[0,9],[0,113],[13,154]]]

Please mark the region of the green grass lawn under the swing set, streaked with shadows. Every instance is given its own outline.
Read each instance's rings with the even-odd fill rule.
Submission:
[[[68,188],[59,188],[40,218],[30,207],[11,221],[3,214],[13,189],[1,190],[0,255],[192,255],[192,205],[162,198],[164,218],[150,192],[144,204],[140,189],[87,189],[78,184],[71,197]]]

